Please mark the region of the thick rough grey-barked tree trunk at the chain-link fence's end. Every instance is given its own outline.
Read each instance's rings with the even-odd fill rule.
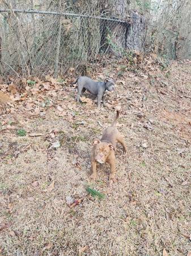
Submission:
[[[146,20],[143,16],[128,11],[128,1],[113,1],[112,16],[126,20],[126,23],[102,22],[101,50],[121,55],[124,50],[142,51],[145,43]],[[109,8],[110,9],[110,8]]]

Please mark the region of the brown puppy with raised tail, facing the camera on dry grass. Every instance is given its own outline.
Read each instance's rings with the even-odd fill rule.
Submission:
[[[109,175],[109,181],[110,184],[112,184],[116,174],[116,158],[114,155],[114,151],[116,150],[116,142],[120,142],[122,144],[124,148],[124,154],[126,154],[127,148],[124,138],[115,127],[118,117],[119,112],[117,110],[117,115],[114,119],[114,122],[112,123],[112,126],[109,126],[107,129],[105,129],[100,141],[99,139],[95,139],[94,141],[94,147],[92,148],[91,154],[91,179],[96,178],[96,163],[98,162],[103,164],[107,162],[111,166],[111,174]]]

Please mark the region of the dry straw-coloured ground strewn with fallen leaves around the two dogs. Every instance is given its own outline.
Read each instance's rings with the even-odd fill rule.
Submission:
[[[73,69],[1,84],[0,255],[191,255],[191,62],[163,68],[152,56],[92,65],[116,81],[100,110],[88,93],[75,101]],[[107,164],[88,180],[90,152],[116,109],[128,154],[118,145],[109,187]]]

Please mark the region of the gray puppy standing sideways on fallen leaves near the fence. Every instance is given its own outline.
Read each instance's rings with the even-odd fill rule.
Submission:
[[[97,106],[100,108],[101,100],[103,99],[103,105],[105,105],[105,90],[109,90],[110,92],[114,90],[114,83],[111,80],[107,80],[105,82],[95,82],[90,77],[80,76],[78,79],[72,84],[78,84],[78,94],[77,101],[80,101],[81,93],[87,90],[88,92],[97,96]]]

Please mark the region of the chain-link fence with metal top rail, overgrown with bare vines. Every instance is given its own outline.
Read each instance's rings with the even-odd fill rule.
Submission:
[[[144,26],[137,43],[132,44],[131,34],[138,28],[114,18],[0,10],[0,24],[0,72],[4,77],[62,76],[97,55],[122,55],[129,47],[141,49],[144,45]]]

